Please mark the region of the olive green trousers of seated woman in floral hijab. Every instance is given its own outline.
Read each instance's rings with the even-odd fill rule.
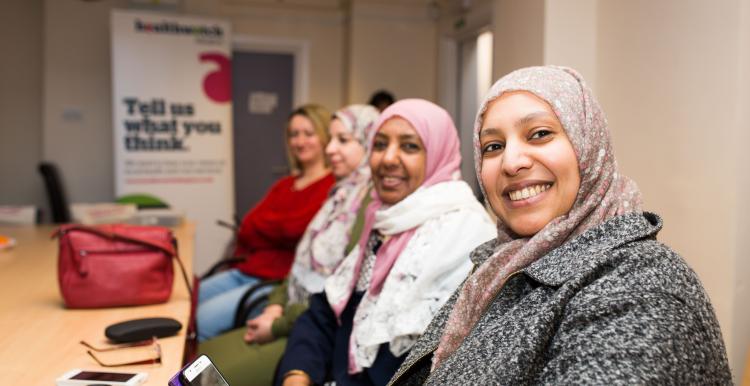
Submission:
[[[270,386],[276,365],[284,354],[286,337],[266,344],[247,344],[242,339],[247,328],[238,328],[198,346],[232,386]]]

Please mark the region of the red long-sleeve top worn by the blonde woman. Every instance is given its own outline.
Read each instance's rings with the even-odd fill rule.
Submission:
[[[247,257],[235,268],[264,279],[283,279],[294,261],[297,242],[328,197],[333,174],[294,189],[294,177],[277,181],[242,219],[235,256]]]

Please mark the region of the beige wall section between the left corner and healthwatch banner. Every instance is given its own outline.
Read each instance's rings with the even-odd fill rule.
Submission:
[[[43,157],[71,202],[114,198],[109,13],[122,3],[44,3]]]

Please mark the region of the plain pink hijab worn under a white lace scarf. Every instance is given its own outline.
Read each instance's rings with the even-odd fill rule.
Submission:
[[[417,131],[425,146],[427,156],[425,161],[425,180],[419,189],[435,185],[439,182],[461,178],[461,153],[459,152],[458,130],[447,111],[423,99],[402,99],[383,111],[380,118],[375,122],[375,132],[380,130],[380,127],[386,121],[396,117],[408,121]],[[372,148],[372,143],[370,143],[369,147]],[[365,213],[365,223],[362,229],[363,236],[359,240],[360,253],[354,270],[354,277],[349,284],[349,296],[331,305],[337,317],[344,311],[344,307],[346,307],[346,303],[349,301],[351,292],[354,290],[354,286],[359,278],[360,266],[364,260],[367,249],[366,244],[369,239],[367,236],[372,232],[373,225],[375,224],[375,213],[385,206],[375,191],[372,194],[373,200],[370,202]],[[398,203],[395,205],[398,205]],[[380,247],[375,259],[368,289],[370,296],[377,296],[380,293],[383,282],[391,271],[393,264],[419,225],[414,224],[413,228],[389,237]]]

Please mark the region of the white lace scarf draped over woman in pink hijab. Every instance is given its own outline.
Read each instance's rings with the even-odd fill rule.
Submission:
[[[420,188],[376,213],[374,229],[394,235],[417,228],[378,296],[365,293],[354,316],[349,372],[370,367],[383,343],[403,355],[471,269],[469,253],[495,236],[495,226],[464,181]],[[362,235],[368,237],[369,235]],[[359,256],[355,248],[325,284],[337,304],[349,296]]]

